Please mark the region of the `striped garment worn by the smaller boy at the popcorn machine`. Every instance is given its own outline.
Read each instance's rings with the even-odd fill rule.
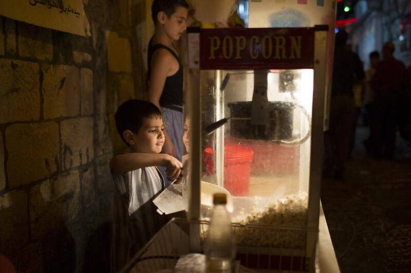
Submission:
[[[113,235],[110,268],[118,272],[166,223],[156,212],[153,199],[163,189],[155,167],[113,175]]]

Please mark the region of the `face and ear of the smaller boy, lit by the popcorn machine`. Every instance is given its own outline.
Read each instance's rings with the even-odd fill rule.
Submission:
[[[145,118],[138,134],[135,134],[133,150],[137,153],[158,154],[164,144],[162,118]]]

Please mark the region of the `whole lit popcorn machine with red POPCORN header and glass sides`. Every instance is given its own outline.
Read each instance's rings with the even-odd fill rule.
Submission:
[[[314,270],[327,35],[327,25],[188,30],[185,209],[207,221],[203,183],[225,188],[244,266]],[[192,230],[192,251],[206,233]]]

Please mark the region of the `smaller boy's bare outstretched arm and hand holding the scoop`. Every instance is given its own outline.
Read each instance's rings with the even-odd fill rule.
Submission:
[[[110,160],[110,172],[121,175],[143,167],[157,165],[167,167],[167,177],[170,179],[176,179],[182,168],[180,161],[167,154],[128,153],[115,156]]]

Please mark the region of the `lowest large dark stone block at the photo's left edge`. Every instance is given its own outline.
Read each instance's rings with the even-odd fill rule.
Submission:
[[[12,252],[28,240],[27,194],[11,191],[0,195],[0,249]]]

